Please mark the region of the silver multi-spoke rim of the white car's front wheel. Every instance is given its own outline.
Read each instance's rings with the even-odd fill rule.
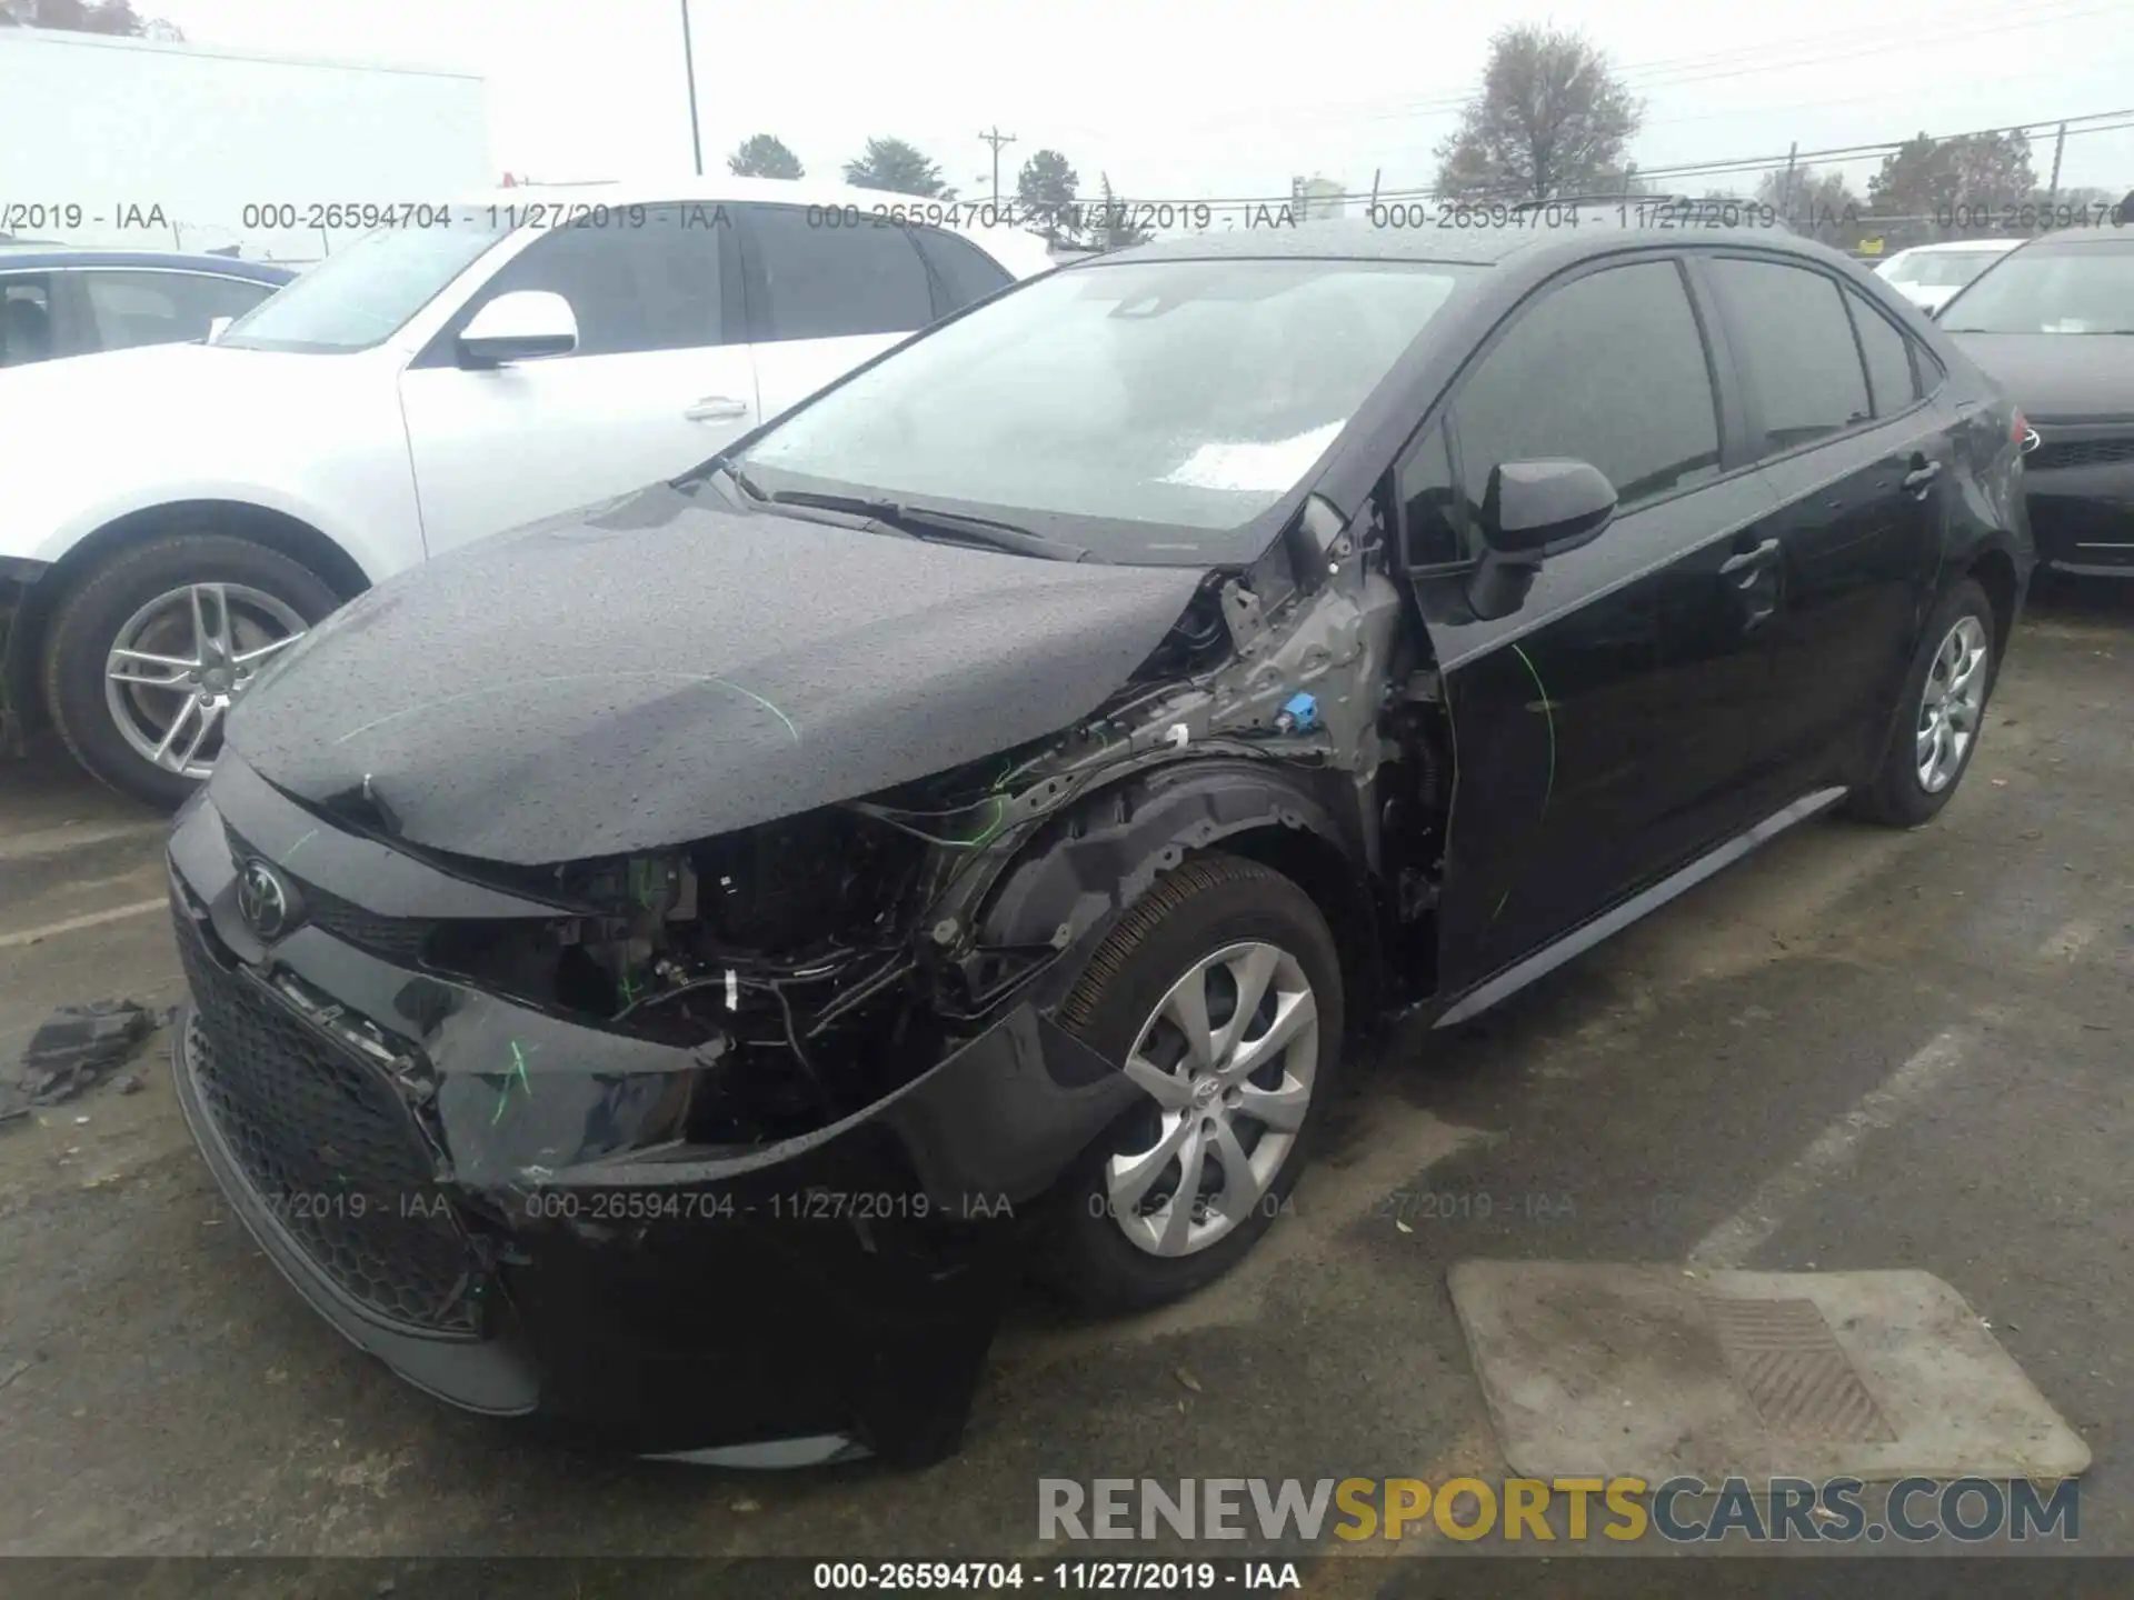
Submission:
[[[156,595],[111,642],[105,706],[145,762],[205,779],[222,742],[222,715],[303,631],[290,606],[235,582]]]

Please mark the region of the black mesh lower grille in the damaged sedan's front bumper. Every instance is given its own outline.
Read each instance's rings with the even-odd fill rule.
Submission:
[[[177,907],[186,1062],[254,1197],[344,1291],[410,1329],[480,1333],[474,1261],[380,1067],[222,966]]]

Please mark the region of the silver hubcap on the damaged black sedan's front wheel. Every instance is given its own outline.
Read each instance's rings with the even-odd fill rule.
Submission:
[[[1152,1101],[1105,1167],[1127,1237],[1184,1257],[1244,1222],[1297,1141],[1317,1071],[1319,1003],[1295,956],[1238,943],[1195,962],[1127,1054]]]

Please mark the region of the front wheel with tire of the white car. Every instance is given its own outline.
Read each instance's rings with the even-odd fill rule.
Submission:
[[[120,550],[45,634],[53,727],[96,779],[177,809],[207,777],[252,676],[339,606],[309,567],[226,533]]]

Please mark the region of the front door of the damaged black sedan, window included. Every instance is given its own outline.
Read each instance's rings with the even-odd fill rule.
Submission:
[[[1703,843],[1709,753],[1763,691],[1761,638],[1701,563],[1771,497],[1731,431],[1682,262],[1641,254],[1558,279],[1483,348],[1396,469],[1404,559],[1445,674],[1460,796],[1443,887],[1443,986],[1468,988],[1665,875]],[[1613,525],[1551,557],[1524,606],[1464,608],[1490,469],[1575,457],[1618,489]]]

